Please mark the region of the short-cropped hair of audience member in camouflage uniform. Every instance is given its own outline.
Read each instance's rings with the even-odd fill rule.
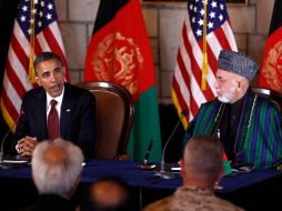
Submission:
[[[184,150],[187,173],[193,171],[201,180],[213,180],[222,170],[223,148],[218,139],[212,137],[193,137]]]

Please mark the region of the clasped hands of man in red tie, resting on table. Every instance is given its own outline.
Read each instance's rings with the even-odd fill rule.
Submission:
[[[31,157],[36,145],[38,144],[37,138],[26,137],[18,141],[19,154],[23,157]]]

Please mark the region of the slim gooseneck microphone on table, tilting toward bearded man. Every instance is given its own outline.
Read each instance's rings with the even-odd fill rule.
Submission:
[[[157,173],[154,174],[154,177],[158,177],[158,178],[161,178],[161,179],[164,179],[164,180],[169,180],[169,179],[175,178],[175,174],[174,174],[174,173],[168,172],[168,171],[164,170],[164,153],[165,153],[165,149],[167,149],[169,142],[171,141],[171,138],[172,138],[173,134],[175,133],[175,131],[177,131],[177,129],[178,129],[178,127],[179,127],[181,120],[182,120],[184,117],[187,117],[187,114],[188,114],[188,111],[187,111],[187,110],[183,110],[183,111],[181,112],[181,115],[180,115],[180,118],[179,118],[179,121],[178,121],[177,125],[174,127],[174,129],[172,130],[172,132],[171,132],[171,134],[170,134],[168,141],[165,142],[165,144],[164,144],[164,147],[163,147],[163,150],[162,150],[161,170],[160,170],[159,172],[157,172]]]

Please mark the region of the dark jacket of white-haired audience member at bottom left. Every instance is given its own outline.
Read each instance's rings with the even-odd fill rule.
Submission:
[[[38,200],[30,208],[20,211],[74,211],[74,205],[70,200],[54,194],[39,195]]]

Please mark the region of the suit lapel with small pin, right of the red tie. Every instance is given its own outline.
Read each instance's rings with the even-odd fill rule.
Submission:
[[[72,100],[71,87],[64,83],[64,93],[61,107],[61,118],[60,118],[60,135],[67,138],[68,125],[71,119],[71,113],[73,112],[74,101]]]

